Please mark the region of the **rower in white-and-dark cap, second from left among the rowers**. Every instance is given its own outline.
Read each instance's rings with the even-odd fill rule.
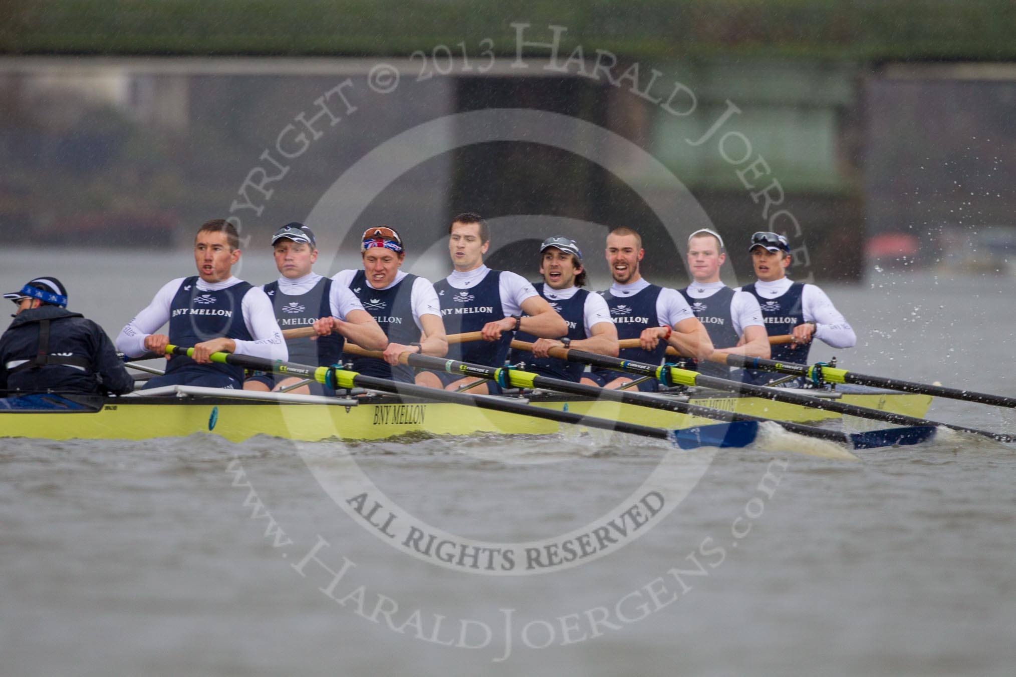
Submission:
[[[381,350],[388,344],[384,332],[348,288],[311,270],[318,250],[314,232],[308,226],[287,223],[272,234],[271,248],[280,276],[263,288],[271,299],[279,327],[283,331],[299,329],[310,327],[321,318],[328,319],[329,335],[288,342],[290,361],[314,365],[341,362],[345,339],[371,350]],[[281,390],[301,381],[258,371],[244,382],[244,390]],[[288,392],[334,394],[332,389],[316,383]]]

